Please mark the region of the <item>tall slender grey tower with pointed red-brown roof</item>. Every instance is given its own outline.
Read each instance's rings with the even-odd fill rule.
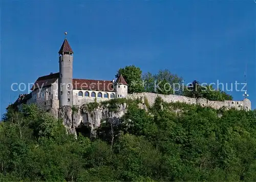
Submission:
[[[73,105],[73,51],[65,38],[59,50],[59,107]]]

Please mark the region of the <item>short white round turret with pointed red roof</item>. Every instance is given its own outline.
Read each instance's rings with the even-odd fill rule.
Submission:
[[[128,84],[124,80],[123,76],[120,74],[114,83],[116,90],[116,98],[125,98],[128,93]]]

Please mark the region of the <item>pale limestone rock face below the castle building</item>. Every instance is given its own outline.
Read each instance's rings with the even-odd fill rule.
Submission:
[[[69,133],[76,136],[76,129],[86,126],[90,130],[90,137],[95,137],[95,129],[100,127],[101,123],[110,119],[119,122],[126,110],[126,103],[119,104],[115,111],[110,111],[108,106],[99,106],[92,111],[82,106],[75,110],[72,110],[71,106],[63,106],[59,108],[58,118],[63,119],[63,125]]]

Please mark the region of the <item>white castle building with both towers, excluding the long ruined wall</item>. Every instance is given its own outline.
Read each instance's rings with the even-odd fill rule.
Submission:
[[[66,38],[58,54],[59,73],[39,77],[31,88],[32,92],[19,95],[15,105],[35,103],[48,110],[127,96],[128,85],[122,75],[112,81],[73,78],[74,52]]]

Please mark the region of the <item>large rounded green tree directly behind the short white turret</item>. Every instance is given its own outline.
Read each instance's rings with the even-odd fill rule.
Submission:
[[[144,91],[143,82],[141,78],[142,71],[135,65],[125,66],[118,70],[116,77],[122,74],[124,80],[127,82],[128,93],[141,93]]]

